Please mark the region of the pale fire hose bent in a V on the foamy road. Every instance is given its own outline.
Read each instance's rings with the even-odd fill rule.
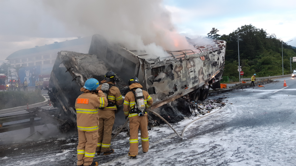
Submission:
[[[187,125],[184,127],[183,131],[181,132],[181,135],[180,135],[180,134],[176,131],[176,129],[174,129],[173,126],[170,125],[170,123],[169,123],[168,121],[166,121],[162,116],[160,116],[160,115],[157,114],[155,111],[152,111],[152,110],[150,110],[150,109],[146,109],[146,110],[147,110],[148,112],[151,112],[152,114],[158,116],[160,119],[162,119],[162,120],[163,120],[168,126],[170,126],[170,128],[171,128],[171,129],[172,129],[172,130],[178,135],[178,137],[180,137],[181,139],[183,139],[185,129],[186,129],[190,124],[192,124],[193,122],[195,122],[195,121],[197,121],[197,120],[199,120],[199,119],[201,119],[201,118],[203,118],[203,117],[206,117],[206,116],[209,116],[209,115],[211,115],[211,114],[214,114],[215,112],[221,111],[221,110],[225,109],[226,106],[227,106],[227,105],[225,105],[223,108],[220,108],[220,109],[218,109],[218,110],[216,110],[216,111],[214,111],[214,112],[212,112],[212,113],[210,113],[210,114],[207,114],[207,115],[202,116],[202,117],[200,117],[200,118],[194,119],[193,121],[191,121],[189,124],[187,124]],[[118,130],[118,132],[116,132],[116,134],[115,134],[111,139],[114,139],[114,138],[115,138],[115,137],[121,132],[121,130],[123,129],[123,127],[125,127],[126,124],[128,123],[128,121],[129,121],[129,119],[126,120],[126,122],[122,125],[122,127]]]

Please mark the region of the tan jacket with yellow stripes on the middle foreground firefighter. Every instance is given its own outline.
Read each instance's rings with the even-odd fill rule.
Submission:
[[[106,81],[106,80],[101,81],[101,83],[108,83],[108,84],[114,85],[111,81]],[[102,84],[96,89],[101,90],[101,88],[102,88]],[[121,105],[123,102],[121,93],[116,86],[112,86],[111,88],[109,88],[107,99],[108,101],[115,103],[115,106],[105,107],[103,110],[117,110],[116,106]]]

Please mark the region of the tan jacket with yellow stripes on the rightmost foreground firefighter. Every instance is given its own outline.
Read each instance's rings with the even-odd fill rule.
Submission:
[[[130,89],[134,89],[134,88],[142,88],[142,86],[139,83],[133,83],[130,85]],[[153,99],[147,91],[144,91],[144,90],[142,90],[142,91],[143,91],[145,106],[146,106],[146,108],[149,108],[153,103]],[[138,114],[135,114],[135,113],[129,114],[129,111],[131,109],[133,109],[134,106],[136,105],[135,100],[136,99],[135,99],[135,95],[133,94],[133,92],[126,93],[126,96],[125,96],[124,102],[123,102],[123,113],[126,116],[128,116],[129,118],[132,118],[133,116],[138,116]],[[145,115],[147,115],[147,114],[145,114]]]

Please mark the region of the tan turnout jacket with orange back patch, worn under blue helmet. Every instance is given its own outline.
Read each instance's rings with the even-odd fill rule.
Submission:
[[[77,113],[77,129],[94,132],[98,130],[98,108],[107,106],[107,98],[101,91],[98,94],[91,93],[85,88],[75,101],[75,109]]]

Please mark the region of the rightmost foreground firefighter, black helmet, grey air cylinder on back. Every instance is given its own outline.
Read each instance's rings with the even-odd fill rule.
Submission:
[[[136,157],[138,155],[138,129],[141,131],[141,141],[143,152],[146,153],[149,149],[149,137],[148,137],[148,116],[146,108],[149,108],[153,99],[149,96],[147,91],[143,88],[136,77],[132,77],[128,80],[128,85],[131,91],[126,93],[123,103],[123,112],[128,116],[130,124],[130,149],[128,156]]]

